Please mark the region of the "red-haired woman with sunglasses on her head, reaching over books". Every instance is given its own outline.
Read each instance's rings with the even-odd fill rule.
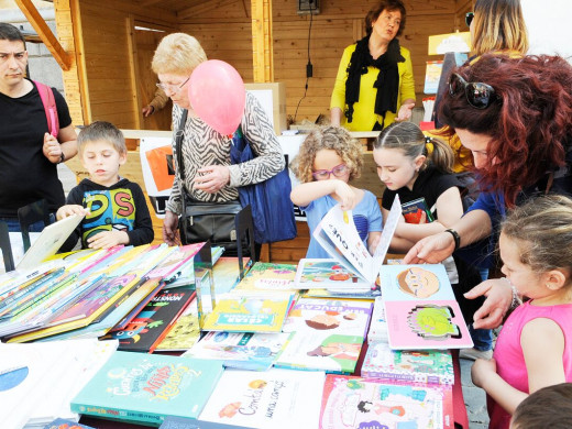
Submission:
[[[405,263],[436,263],[491,237],[507,210],[539,194],[572,195],[572,66],[561,57],[483,55],[451,75],[441,118],[473,154],[482,193],[451,229],[419,241]],[[494,328],[518,296],[506,279],[465,294],[485,304],[474,328]],[[514,299],[512,299],[514,298]]]

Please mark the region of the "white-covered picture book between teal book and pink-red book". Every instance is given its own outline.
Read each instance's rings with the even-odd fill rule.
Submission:
[[[323,372],[227,370],[200,414],[248,428],[317,428]]]

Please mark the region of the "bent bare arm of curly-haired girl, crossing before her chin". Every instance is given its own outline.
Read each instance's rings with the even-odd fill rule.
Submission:
[[[345,182],[338,179],[309,182],[296,186],[290,193],[292,202],[306,207],[326,195],[336,194],[342,210],[351,210],[359,202],[359,196]]]

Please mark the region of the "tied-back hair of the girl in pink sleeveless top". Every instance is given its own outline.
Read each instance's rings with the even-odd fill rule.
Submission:
[[[550,195],[516,207],[502,233],[517,243],[520,262],[537,273],[572,268],[572,199]]]

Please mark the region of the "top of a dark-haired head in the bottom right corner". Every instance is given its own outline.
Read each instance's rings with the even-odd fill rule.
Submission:
[[[568,429],[572,420],[572,383],[542,387],[518,404],[514,429]]]

